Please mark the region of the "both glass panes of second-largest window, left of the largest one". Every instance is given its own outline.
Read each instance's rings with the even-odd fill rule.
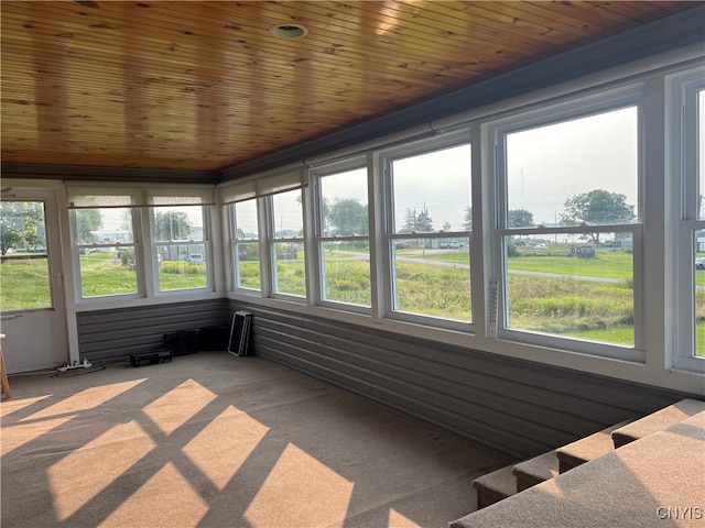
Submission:
[[[429,146],[386,158],[390,314],[468,323],[470,145]]]

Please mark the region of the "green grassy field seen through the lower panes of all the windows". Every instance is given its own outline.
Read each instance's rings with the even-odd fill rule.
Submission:
[[[326,299],[370,306],[369,262],[354,252],[326,255]],[[620,345],[633,345],[632,256],[598,253],[596,258],[527,255],[509,261],[509,327]],[[7,260],[1,265],[0,309],[51,306],[45,258]],[[80,258],[85,297],[137,293],[137,273],[116,254]],[[302,260],[278,263],[278,290],[305,295]],[[469,254],[466,250],[397,251],[394,309],[469,322],[471,317]],[[240,262],[243,287],[260,289],[260,263]],[[705,286],[705,271],[695,272]],[[164,262],[159,271],[163,292],[207,286],[206,265]],[[696,292],[698,355],[705,355],[705,288]]]

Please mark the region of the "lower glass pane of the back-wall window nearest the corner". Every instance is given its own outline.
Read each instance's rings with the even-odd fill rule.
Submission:
[[[158,245],[156,254],[160,292],[208,286],[205,244]]]

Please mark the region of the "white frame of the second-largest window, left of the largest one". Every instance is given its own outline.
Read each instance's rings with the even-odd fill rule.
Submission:
[[[390,148],[384,148],[379,152],[379,170],[380,174],[383,175],[383,209],[384,209],[384,218],[383,218],[383,229],[381,230],[381,246],[378,245],[377,254],[382,258],[383,265],[383,276],[381,278],[381,289],[383,295],[378,296],[378,298],[382,299],[383,306],[381,307],[380,312],[382,317],[390,320],[410,322],[414,324],[429,326],[437,329],[445,330],[454,330],[463,333],[473,333],[475,331],[475,305],[471,304],[473,309],[469,314],[469,321],[458,321],[444,319],[441,317],[432,317],[424,316],[421,314],[409,314],[403,311],[395,310],[397,304],[397,292],[395,292],[395,280],[394,280],[394,246],[399,241],[409,240],[409,239],[424,239],[424,240],[438,240],[438,239],[448,239],[448,238],[468,238],[468,244],[466,250],[469,252],[473,250],[473,231],[448,231],[441,232],[435,231],[431,233],[414,233],[414,234],[402,234],[397,233],[394,230],[394,188],[393,188],[393,175],[392,175],[392,163],[395,160],[406,158],[419,156],[423,154],[430,154],[447,148],[452,148],[455,146],[462,145],[470,145],[473,147],[473,142],[470,139],[470,128],[469,125],[462,127],[459,130],[454,132],[448,132],[446,134],[442,134],[437,138],[431,138],[425,140],[420,140],[415,142],[409,142],[402,145],[393,146]],[[473,150],[473,156],[477,155],[475,150]],[[468,161],[470,166],[473,166],[471,160]],[[469,176],[468,185],[470,188],[470,198],[473,202],[479,199],[477,194],[473,191],[473,177]],[[379,197],[378,197],[379,199]],[[475,210],[475,207],[473,206]],[[470,258],[470,277],[473,277],[473,258]],[[477,276],[477,275],[475,275]],[[468,296],[470,301],[475,299],[473,294],[475,287],[477,287],[477,283],[470,283],[470,292]]]

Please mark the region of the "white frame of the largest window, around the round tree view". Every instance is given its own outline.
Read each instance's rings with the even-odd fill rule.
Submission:
[[[495,212],[490,226],[491,267],[486,274],[486,280],[498,280],[496,314],[488,309],[487,333],[492,339],[501,339],[518,343],[532,344],[542,348],[558,349],[567,352],[585,353],[595,356],[618,359],[623,361],[644,363],[646,350],[643,343],[643,82],[631,82],[625,86],[596,89],[589,94],[564,98],[556,102],[545,102],[525,111],[511,112],[507,118],[487,123],[489,138],[492,141],[494,157],[488,176],[491,178],[489,187],[492,189]],[[634,223],[590,226],[590,227],[536,227],[509,228],[505,226],[508,212],[508,182],[506,167],[507,134],[522,130],[531,130],[554,123],[576,120],[604,112],[637,107],[639,114],[637,175],[637,220]],[[487,145],[486,145],[487,146]],[[563,338],[555,334],[531,332],[508,327],[508,266],[506,262],[505,238],[514,234],[542,234],[546,238],[553,234],[588,233],[588,232],[630,232],[633,241],[633,319],[634,345],[595,342],[576,338]],[[486,248],[488,245],[486,244]],[[489,293],[492,295],[492,292]],[[495,317],[496,316],[496,317]]]

